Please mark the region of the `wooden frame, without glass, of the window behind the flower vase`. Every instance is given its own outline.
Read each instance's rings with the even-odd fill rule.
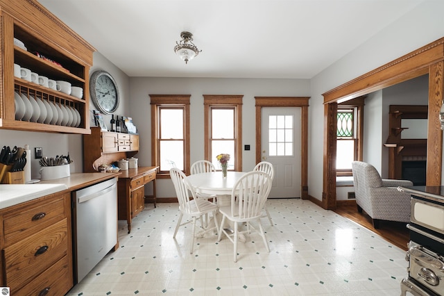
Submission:
[[[204,94],[205,160],[211,161],[211,108],[234,108],[234,171],[242,171],[242,98],[243,95]]]

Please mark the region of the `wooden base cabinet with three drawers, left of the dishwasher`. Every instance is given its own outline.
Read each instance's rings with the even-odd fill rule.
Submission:
[[[71,195],[0,210],[0,286],[11,295],[65,295],[73,286]]]

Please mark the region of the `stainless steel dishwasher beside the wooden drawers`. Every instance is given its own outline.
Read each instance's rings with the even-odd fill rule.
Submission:
[[[72,192],[74,283],[117,245],[117,178]]]

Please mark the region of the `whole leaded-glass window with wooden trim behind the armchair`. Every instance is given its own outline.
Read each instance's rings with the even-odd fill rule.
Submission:
[[[336,113],[336,176],[352,176],[352,161],[362,160],[364,98],[338,105]]]

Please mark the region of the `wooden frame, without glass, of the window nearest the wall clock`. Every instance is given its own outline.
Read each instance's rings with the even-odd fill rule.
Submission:
[[[151,163],[153,166],[160,167],[160,108],[182,108],[183,114],[183,165],[185,174],[189,174],[190,161],[190,127],[189,127],[189,111],[191,94],[149,94],[151,105]],[[159,171],[158,179],[169,179],[170,175],[167,171]]]

